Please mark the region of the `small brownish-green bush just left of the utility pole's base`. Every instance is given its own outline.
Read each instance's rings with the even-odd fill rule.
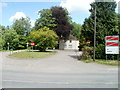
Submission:
[[[83,52],[83,54],[80,59],[88,60],[93,57],[93,48],[92,47],[85,46],[84,48],[82,48],[82,52]]]

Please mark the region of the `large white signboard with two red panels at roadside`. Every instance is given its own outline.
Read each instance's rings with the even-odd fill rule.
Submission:
[[[106,36],[105,53],[119,54],[119,36]]]

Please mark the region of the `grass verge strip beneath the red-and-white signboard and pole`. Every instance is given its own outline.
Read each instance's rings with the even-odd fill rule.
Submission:
[[[105,64],[105,65],[112,65],[112,66],[120,66],[120,61],[117,60],[103,60],[103,59],[96,59],[95,61],[93,60],[81,60],[85,63],[91,63],[95,62],[98,64]]]

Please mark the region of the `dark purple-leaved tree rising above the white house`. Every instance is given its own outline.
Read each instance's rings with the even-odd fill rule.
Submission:
[[[72,25],[70,24],[68,11],[62,7],[52,7],[52,15],[55,18],[55,23],[57,24],[55,32],[60,39],[68,39],[70,31],[72,30]]]

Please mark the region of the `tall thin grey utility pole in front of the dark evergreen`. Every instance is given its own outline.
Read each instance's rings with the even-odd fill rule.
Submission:
[[[96,2],[95,2],[95,18],[94,18],[94,50],[93,50],[93,61],[95,61],[95,50],[96,50]]]

